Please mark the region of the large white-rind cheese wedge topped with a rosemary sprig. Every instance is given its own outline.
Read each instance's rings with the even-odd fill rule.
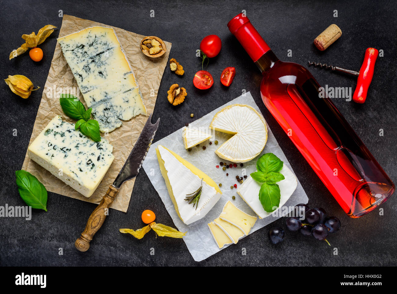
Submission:
[[[187,225],[203,218],[220,199],[222,192],[219,186],[204,172],[166,147],[158,145],[156,153],[168,194],[179,218]],[[185,198],[200,187],[201,180],[202,192],[196,208]]]

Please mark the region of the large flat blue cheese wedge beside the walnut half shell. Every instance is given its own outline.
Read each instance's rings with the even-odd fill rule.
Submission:
[[[89,27],[58,38],[84,100],[101,132],[111,132],[146,107],[113,28]]]

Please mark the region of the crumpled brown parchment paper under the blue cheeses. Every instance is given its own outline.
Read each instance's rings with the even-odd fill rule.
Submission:
[[[87,19],[81,19],[71,15],[64,15],[59,37],[66,36],[67,34],[80,31],[87,27],[98,25],[103,27],[112,27],[102,23],[97,23],[95,21],[89,21]],[[149,115],[153,112],[154,105],[156,103],[158,88],[160,86],[164,69],[167,65],[168,55],[170,53],[172,44],[164,41],[167,47],[166,53],[164,53],[164,55],[158,59],[152,59],[145,56],[139,48],[139,43],[145,36],[125,31],[117,27],[113,27],[113,29],[115,30],[120,40],[121,46],[123,47],[134,71],[135,78],[138,81],[139,88],[141,89],[143,95],[143,102],[145,103],[147,113]],[[158,37],[161,38],[161,36]],[[50,71],[48,72],[47,81],[41,97],[41,103],[37,112],[36,121],[33,126],[33,132],[29,141],[29,145],[56,115],[61,115],[64,120],[75,123],[74,120],[64,115],[59,103],[59,94],[54,92],[54,89],[58,90],[59,88],[69,87],[78,89],[77,82],[73,77],[69,65],[67,65],[60,45],[57,43],[54,57],[52,58]],[[83,102],[87,108],[83,95],[81,94],[80,101]],[[39,181],[43,183],[44,187],[46,187],[47,191],[83,201],[99,203],[108,190],[108,186],[113,183],[114,179],[116,179],[116,176],[118,175],[121,167],[131,152],[135,141],[138,139],[147,118],[148,116],[144,115],[135,116],[129,121],[123,121],[122,126],[113,132],[102,134],[102,137],[107,139],[110,144],[113,145],[113,155],[115,158],[108,172],[102,179],[102,182],[99,184],[94,194],[89,198],[84,197],[66,185],[60,179],[53,176],[50,172],[31,160],[27,154],[25,155],[22,169],[27,170],[36,176]],[[114,199],[112,205],[110,206],[111,208],[127,212],[134,182],[135,179],[132,179],[123,183],[116,199]]]

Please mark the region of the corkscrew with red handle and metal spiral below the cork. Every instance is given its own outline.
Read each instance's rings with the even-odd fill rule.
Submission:
[[[368,88],[372,81],[372,76],[374,76],[374,67],[376,58],[378,57],[378,52],[379,51],[375,48],[367,48],[367,50],[365,50],[364,61],[361,65],[360,71],[358,72],[320,62],[309,61],[309,66],[314,65],[315,67],[325,68],[331,71],[339,71],[341,73],[348,73],[358,76],[357,87],[353,94],[353,101],[357,103],[364,103],[367,97]]]

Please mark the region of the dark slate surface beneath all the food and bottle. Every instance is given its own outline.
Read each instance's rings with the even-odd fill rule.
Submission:
[[[143,35],[156,35],[172,42],[170,57],[176,58],[184,67],[185,75],[175,76],[167,67],[158,91],[153,121],[162,121],[155,141],[161,139],[185,123],[191,122],[190,113],[200,118],[227,101],[241,95],[242,89],[251,91],[279,145],[288,158],[295,174],[309,197],[311,207],[321,206],[331,215],[341,219],[342,229],[329,237],[331,247],[299,233],[286,232],[285,241],[269,244],[267,231],[271,225],[245,237],[237,245],[229,246],[207,260],[193,260],[181,239],[154,238],[148,234],[136,240],[119,233],[121,227],[139,228],[141,212],[151,209],[157,221],[173,225],[160,197],[142,169],[135,182],[127,213],[110,211],[106,222],[95,235],[88,252],[78,252],[74,241],[85,227],[94,204],[48,193],[48,212],[33,210],[31,221],[23,218],[0,219],[0,265],[396,265],[397,228],[395,211],[397,199],[393,195],[378,210],[358,219],[347,217],[328,190],[321,183],[299,151],[281,130],[264,107],[259,93],[260,72],[227,29],[227,22],[240,13],[247,16],[264,37],[274,53],[284,61],[307,65],[308,59],[332,62],[333,65],[359,70],[368,47],[384,50],[379,57],[374,78],[365,104],[358,105],[334,98],[333,102],[351,123],[362,141],[379,161],[390,178],[396,182],[396,57],[395,42],[397,9],[392,1],[0,1],[1,40],[0,76],[23,74],[42,88],[29,99],[20,99],[0,83],[0,141],[1,184],[0,205],[20,206],[24,202],[15,185],[15,170],[22,166],[29,138],[40,104],[42,89],[59,29],[40,48],[44,51],[42,61],[33,62],[27,53],[8,61],[9,53],[23,42],[21,35],[37,32],[44,25],[60,28],[64,14],[98,21]],[[151,18],[150,10],[155,17]],[[338,17],[333,17],[337,10]],[[336,23],[343,35],[325,52],[313,45],[314,38],[328,25]],[[222,39],[222,51],[211,60],[208,71],[215,78],[208,91],[194,88],[192,79],[200,69],[195,57],[201,39],[208,34],[217,34]],[[287,50],[292,57],[287,57]],[[229,88],[219,82],[221,71],[233,66],[237,70]],[[309,68],[318,82],[325,86],[355,88],[356,78],[331,73],[318,68]],[[172,107],[166,92],[173,83],[187,89],[185,102]],[[52,114],[51,114],[52,115]],[[379,136],[379,130],[384,136]],[[17,136],[12,136],[17,129]],[[284,225],[280,219],[272,225]],[[58,248],[64,254],[58,255]],[[241,255],[241,248],[247,255]],[[338,254],[333,254],[333,248]],[[155,255],[150,255],[154,248]]]

